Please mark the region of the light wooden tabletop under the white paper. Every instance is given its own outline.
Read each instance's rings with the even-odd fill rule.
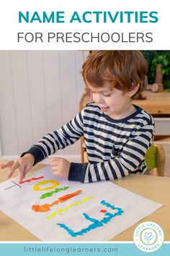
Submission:
[[[0,161],[0,163],[3,161]],[[42,168],[44,165],[37,164],[33,170]],[[1,170],[0,182],[6,180],[8,169]],[[16,174],[17,175],[17,174]],[[147,197],[161,204],[163,207],[156,210],[142,221],[135,223],[129,229],[115,236],[112,241],[133,241],[133,231],[136,226],[143,221],[153,221],[158,223],[164,230],[165,241],[170,241],[170,178],[130,174],[123,179],[115,180],[115,184],[135,192],[138,195]],[[24,213],[23,213],[24,214]],[[24,229],[19,223],[6,216],[0,211],[0,241],[38,241],[36,236]]]

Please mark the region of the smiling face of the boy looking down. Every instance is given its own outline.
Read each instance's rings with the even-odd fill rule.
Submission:
[[[117,88],[110,88],[109,84],[104,85],[102,88],[94,88],[88,85],[92,92],[93,100],[97,106],[104,112],[104,114],[111,116],[115,119],[125,117],[131,104],[131,93],[124,93]]]

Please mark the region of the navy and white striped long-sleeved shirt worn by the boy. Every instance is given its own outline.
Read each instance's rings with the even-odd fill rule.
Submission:
[[[74,119],[43,137],[27,153],[34,155],[37,163],[84,136],[89,163],[71,163],[69,180],[96,182],[130,173],[144,174],[146,150],[153,144],[154,121],[142,108],[135,108],[135,113],[124,119],[112,119],[96,103],[89,103]]]

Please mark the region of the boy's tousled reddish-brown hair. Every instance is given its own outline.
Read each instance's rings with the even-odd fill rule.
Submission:
[[[102,87],[109,82],[111,89],[125,93],[139,85],[133,98],[143,92],[147,71],[147,61],[140,51],[91,51],[82,66],[87,87]]]

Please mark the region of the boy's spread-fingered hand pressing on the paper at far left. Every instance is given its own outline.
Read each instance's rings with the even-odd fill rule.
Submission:
[[[22,179],[24,179],[27,172],[30,171],[34,162],[35,158],[33,155],[25,154],[24,156],[22,156],[22,158],[18,158],[14,161],[9,161],[7,163],[1,164],[0,169],[4,169],[7,167],[11,168],[11,171],[9,171],[9,174],[7,175],[8,178],[11,178],[14,172],[18,169],[19,182],[22,182]]]

